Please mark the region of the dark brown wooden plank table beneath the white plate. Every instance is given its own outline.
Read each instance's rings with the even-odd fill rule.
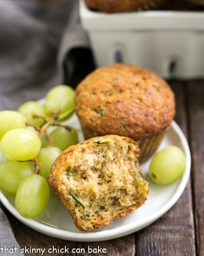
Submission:
[[[52,238],[20,223],[0,205],[21,247],[45,248],[50,255],[201,256],[204,255],[204,81],[169,81],[176,97],[175,121],[183,130],[192,155],[191,177],[175,205],[150,226],[118,239],[72,242]],[[48,248],[105,248],[106,253],[50,254]],[[87,251],[87,250],[86,250]],[[40,255],[40,254],[26,254]]]

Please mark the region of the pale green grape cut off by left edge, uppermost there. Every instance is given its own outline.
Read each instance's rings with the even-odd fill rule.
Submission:
[[[7,131],[25,127],[26,122],[26,117],[17,111],[0,111],[0,140]]]

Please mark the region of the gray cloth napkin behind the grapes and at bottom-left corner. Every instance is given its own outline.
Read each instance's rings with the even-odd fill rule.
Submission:
[[[58,0],[49,7],[34,0],[0,0],[0,111],[16,110],[64,83],[65,73],[71,77],[74,72],[80,48],[89,48],[89,42],[78,0]],[[15,246],[13,255],[22,255],[0,209],[0,255],[11,255],[1,248]]]

